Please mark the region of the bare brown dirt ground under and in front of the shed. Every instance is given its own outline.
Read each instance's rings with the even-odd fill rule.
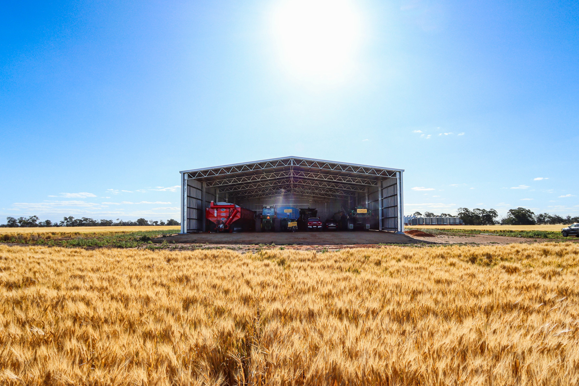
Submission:
[[[193,233],[153,240],[164,241],[174,249],[233,249],[241,253],[259,249],[296,249],[301,251],[339,251],[346,248],[381,248],[386,245],[427,246],[440,244],[512,244],[554,241],[543,238],[506,237],[485,234],[461,236],[415,237],[384,231],[335,231],[298,233]],[[565,241],[579,241],[569,238]]]

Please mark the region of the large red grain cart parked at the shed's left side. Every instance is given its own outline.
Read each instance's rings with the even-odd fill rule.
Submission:
[[[210,232],[239,232],[253,230],[255,212],[235,204],[214,203],[205,209],[207,230]]]

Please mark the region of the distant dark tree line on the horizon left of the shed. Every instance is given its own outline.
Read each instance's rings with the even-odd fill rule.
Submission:
[[[72,216],[65,217],[60,222],[52,222],[50,220],[38,221],[38,216],[25,217],[6,217],[6,223],[1,224],[0,227],[4,228],[29,228],[29,227],[54,227],[54,226],[171,226],[171,225],[181,225],[180,222],[174,219],[168,219],[167,222],[145,220],[144,218],[137,219],[136,221],[123,221],[116,219],[113,220],[94,220],[91,218],[79,218],[75,219]]]

